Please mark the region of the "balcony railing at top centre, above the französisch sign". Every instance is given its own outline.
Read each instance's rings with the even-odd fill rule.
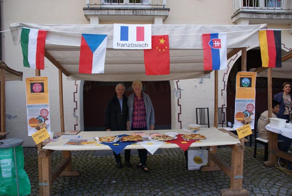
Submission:
[[[165,8],[166,0],[86,0],[87,7],[152,7]]]

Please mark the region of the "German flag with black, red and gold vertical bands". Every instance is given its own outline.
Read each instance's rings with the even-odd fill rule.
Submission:
[[[259,30],[260,54],[263,67],[282,67],[281,30]]]

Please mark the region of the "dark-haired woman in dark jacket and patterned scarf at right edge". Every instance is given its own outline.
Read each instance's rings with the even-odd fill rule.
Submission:
[[[289,121],[289,112],[292,106],[292,94],[291,84],[284,82],[282,85],[282,91],[274,95],[274,99],[280,103],[280,111],[276,114],[278,118],[283,118]],[[278,149],[284,152],[288,152],[292,143],[292,139],[289,137],[278,134]]]

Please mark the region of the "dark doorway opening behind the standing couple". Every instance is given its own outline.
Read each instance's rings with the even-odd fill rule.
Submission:
[[[84,131],[105,131],[105,110],[120,82],[84,81]],[[133,93],[132,82],[125,85],[125,95]],[[171,94],[169,81],[142,81],[143,92],[151,98],[155,113],[155,129],[171,129]]]

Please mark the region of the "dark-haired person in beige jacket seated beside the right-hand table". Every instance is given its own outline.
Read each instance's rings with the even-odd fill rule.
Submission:
[[[276,100],[272,101],[272,118],[277,118],[277,114],[280,110],[280,103]],[[257,131],[260,138],[268,139],[269,131],[266,129],[266,125],[270,123],[268,118],[268,110],[260,114],[257,121]]]

